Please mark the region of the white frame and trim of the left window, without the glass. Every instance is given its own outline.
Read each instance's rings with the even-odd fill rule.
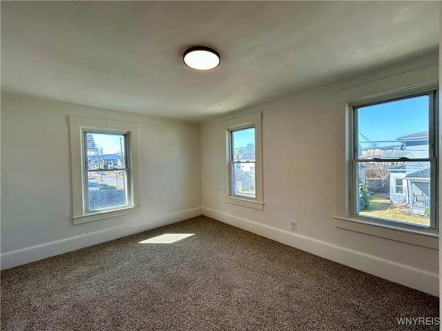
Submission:
[[[73,224],[82,224],[140,212],[138,171],[138,124],[108,119],[69,117],[70,156],[72,164]],[[86,132],[126,134],[128,204],[100,210],[88,210],[86,171]]]

